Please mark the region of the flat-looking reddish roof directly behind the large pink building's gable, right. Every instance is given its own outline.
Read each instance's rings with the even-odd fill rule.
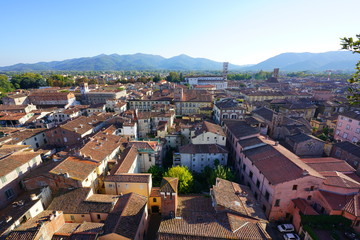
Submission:
[[[355,169],[351,167],[346,161],[332,157],[303,158],[301,160],[318,172],[355,172]]]

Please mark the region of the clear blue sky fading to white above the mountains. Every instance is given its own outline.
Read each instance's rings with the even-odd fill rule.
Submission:
[[[0,66],[105,54],[252,64],[340,49],[360,0],[2,0]]]

